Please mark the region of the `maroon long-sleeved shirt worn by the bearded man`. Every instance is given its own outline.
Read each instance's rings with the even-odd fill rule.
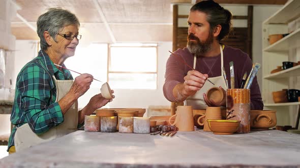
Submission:
[[[184,76],[188,74],[191,69],[185,65],[181,60],[184,59],[188,65],[193,67],[194,55],[189,52],[187,48],[178,49],[174,52],[176,56],[170,56],[166,64],[165,83],[163,87],[164,96],[171,102],[176,102],[172,90],[178,83],[184,82]],[[195,70],[208,74],[208,77],[221,76],[221,54],[215,57],[198,57],[196,60]],[[242,79],[247,71],[247,75],[250,74],[252,69],[252,60],[248,55],[239,49],[235,49],[229,46],[225,46],[223,50],[223,66],[227,75],[228,86],[230,86],[230,70],[229,62],[233,61],[234,66],[234,88],[241,88]],[[248,76],[247,76],[248,77]],[[247,79],[247,78],[246,78]],[[251,110],[262,110],[263,102],[257,78],[253,80],[250,87],[251,94]]]

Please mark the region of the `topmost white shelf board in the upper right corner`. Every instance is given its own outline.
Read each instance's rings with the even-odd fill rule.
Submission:
[[[287,24],[300,15],[299,0],[287,2],[279,11],[269,17],[264,24]]]

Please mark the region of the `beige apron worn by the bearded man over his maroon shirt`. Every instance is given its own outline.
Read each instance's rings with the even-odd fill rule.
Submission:
[[[208,77],[209,80],[211,80],[215,85],[212,83],[205,81],[203,87],[196,92],[195,95],[189,96],[185,101],[184,104],[186,106],[192,106],[193,109],[206,109],[207,105],[203,99],[203,93],[206,93],[206,91],[212,87],[219,87],[221,86],[223,89],[227,90],[226,81],[223,77],[223,50],[220,45],[220,52],[221,52],[221,76],[216,77]],[[194,69],[196,68],[196,56],[194,56]]]

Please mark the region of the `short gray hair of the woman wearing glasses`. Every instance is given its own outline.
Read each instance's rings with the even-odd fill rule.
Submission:
[[[37,33],[40,37],[41,50],[46,50],[49,45],[44,38],[44,31],[48,31],[50,36],[56,40],[57,33],[69,25],[80,26],[78,18],[68,10],[61,8],[50,8],[41,15],[37,21]]]

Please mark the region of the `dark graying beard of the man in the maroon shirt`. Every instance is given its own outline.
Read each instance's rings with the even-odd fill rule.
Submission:
[[[196,42],[190,41],[190,39],[194,39]],[[209,32],[208,38],[203,42],[201,42],[200,39],[195,35],[189,34],[187,48],[192,54],[195,54],[196,57],[199,57],[212,49],[213,40],[214,35],[212,32]]]

